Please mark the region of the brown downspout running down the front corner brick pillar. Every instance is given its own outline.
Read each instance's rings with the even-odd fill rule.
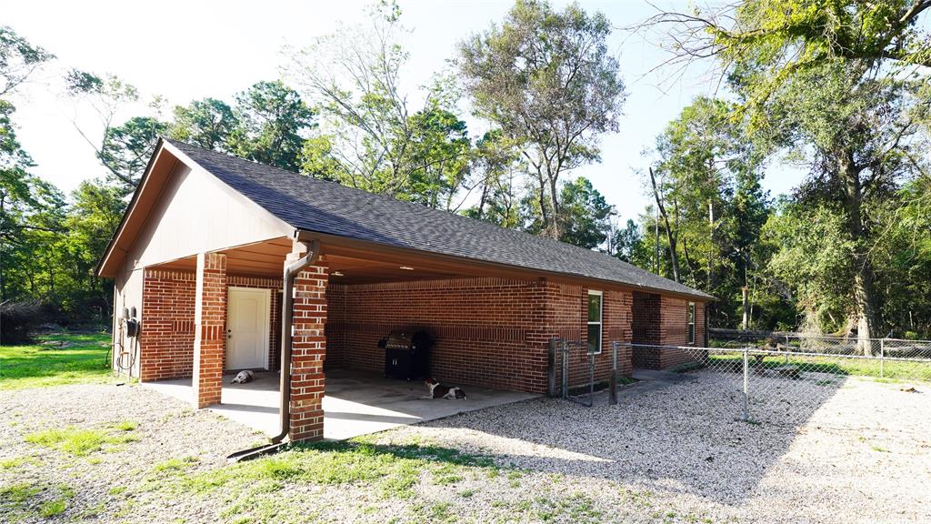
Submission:
[[[306,242],[303,240],[306,231],[301,229],[294,231],[294,240]],[[305,243],[306,245],[306,243]],[[307,254],[290,263],[284,269],[283,283],[281,288],[281,374],[280,394],[281,404],[278,407],[278,413],[281,421],[281,433],[272,437],[272,443],[257,448],[243,449],[226,457],[230,462],[248,461],[260,455],[275,453],[285,446],[282,440],[290,432],[290,370],[291,370],[291,329],[293,327],[293,310],[294,303],[294,279],[298,273],[306,269],[317,260],[320,255],[320,241],[311,240],[307,249]]]

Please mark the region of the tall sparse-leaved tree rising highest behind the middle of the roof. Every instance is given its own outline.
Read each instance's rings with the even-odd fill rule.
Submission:
[[[624,102],[618,63],[608,52],[611,23],[576,5],[556,12],[519,0],[499,27],[459,46],[472,103],[518,144],[535,176],[539,215],[558,239],[560,177],[599,159],[602,133],[617,131]]]

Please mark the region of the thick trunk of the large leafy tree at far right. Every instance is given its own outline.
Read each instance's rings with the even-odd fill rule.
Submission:
[[[862,186],[860,172],[851,151],[840,156],[840,171],[843,176],[843,208],[847,232],[854,241],[855,252],[853,295],[857,306],[857,347],[865,355],[872,354],[870,338],[877,335],[876,294],[873,289],[873,271],[866,254],[866,234],[862,219]]]

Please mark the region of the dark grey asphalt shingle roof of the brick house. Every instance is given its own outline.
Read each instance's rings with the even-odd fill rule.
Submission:
[[[596,251],[167,140],[294,228],[655,291],[712,296]]]

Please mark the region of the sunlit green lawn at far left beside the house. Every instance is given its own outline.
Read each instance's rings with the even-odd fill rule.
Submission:
[[[109,382],[112,373],[104,362],[109,342],[105,333],[65,333],[40,337],[37,344],[0,346],[0,391]]]

